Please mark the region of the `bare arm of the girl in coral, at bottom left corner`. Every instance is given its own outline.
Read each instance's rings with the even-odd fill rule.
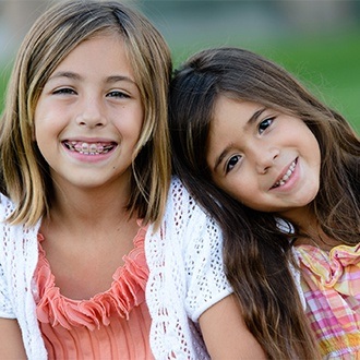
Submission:
[[[21,329],[14,319],[0,319],[0,359],[26,359]]]

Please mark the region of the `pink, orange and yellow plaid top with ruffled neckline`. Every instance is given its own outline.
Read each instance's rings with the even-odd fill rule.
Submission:
[[[307,314],[324,359],[360,359],[360,244],[296,251]]]

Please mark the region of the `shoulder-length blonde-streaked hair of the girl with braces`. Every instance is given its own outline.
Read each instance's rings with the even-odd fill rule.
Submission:
[[[118,33],[127,47],[144,107],[142,133],[132,163],[128,202],[145,223],[158,223],[170,182],[167,94],[169,48],[143,15],[117,1],[69,1],[45,12],[19,50],[1,121],[2,190],[15,203],[9,220],[35,225],[51,206],[52,180],[33,140],[41,89],[59,63],[82,41]]]

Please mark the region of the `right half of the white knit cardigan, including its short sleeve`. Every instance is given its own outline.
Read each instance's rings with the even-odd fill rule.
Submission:
[[[177,179],[160,229],[153,230],[146,236],[145,252],[154,356],[207,359],[197,319],[232,292],[224,273],[221,232]]]

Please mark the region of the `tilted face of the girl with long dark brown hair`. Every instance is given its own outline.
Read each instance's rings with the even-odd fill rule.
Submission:
[[[220,96],[208,141],[214,181],[251,208],[297,219],[319,191],[319,143],[298,118]]]

